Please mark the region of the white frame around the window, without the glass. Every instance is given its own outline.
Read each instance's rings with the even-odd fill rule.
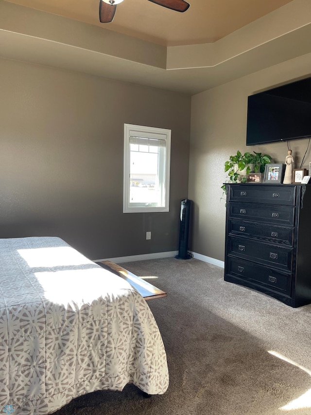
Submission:
[[[130,203],[130,137],[153,138],[165,141],[164,166],[161,166],[163,175],[162,203],[155,206],[146,203]],[[123,174],[123,213],[169,212],[170,210],[170,162],[171,162],[171,130],[165,128],[137,126],[124,124],[124,174]]]

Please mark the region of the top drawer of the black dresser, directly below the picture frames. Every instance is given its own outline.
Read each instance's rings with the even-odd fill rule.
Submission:
[[[237,184],[229,186],[229,200],[294,206],[295,186]]]

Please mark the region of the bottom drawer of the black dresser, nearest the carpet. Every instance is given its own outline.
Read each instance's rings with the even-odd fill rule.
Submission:
[[[291,274],[228,256],[226,274],[255,285],[291,296]],[[238,281],[237,281],[238,282]]]

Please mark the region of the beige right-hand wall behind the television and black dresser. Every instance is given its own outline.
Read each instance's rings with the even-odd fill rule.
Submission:
[[[277,52],[277,51],[276,51]],[[228,157],[255,150],[270,154],[274,162],[284,162],[286,143],[245,145],[247,96],[310,76],[311,54],[252,73],[192,97],[189,198],[193,200],[191,250],[224,260],[225,201],[220,186],[226,179]],[[291,141],[295,166],[300,163],[308,139]],[[309,148],[303,167],[311,161]]]

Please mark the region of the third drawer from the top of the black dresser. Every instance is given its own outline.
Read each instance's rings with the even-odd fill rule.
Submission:
[[[247,222],[240,219],[228,220],[229,235],[247,236],[262,242],[293,246],[294,228],[262,222]]]

